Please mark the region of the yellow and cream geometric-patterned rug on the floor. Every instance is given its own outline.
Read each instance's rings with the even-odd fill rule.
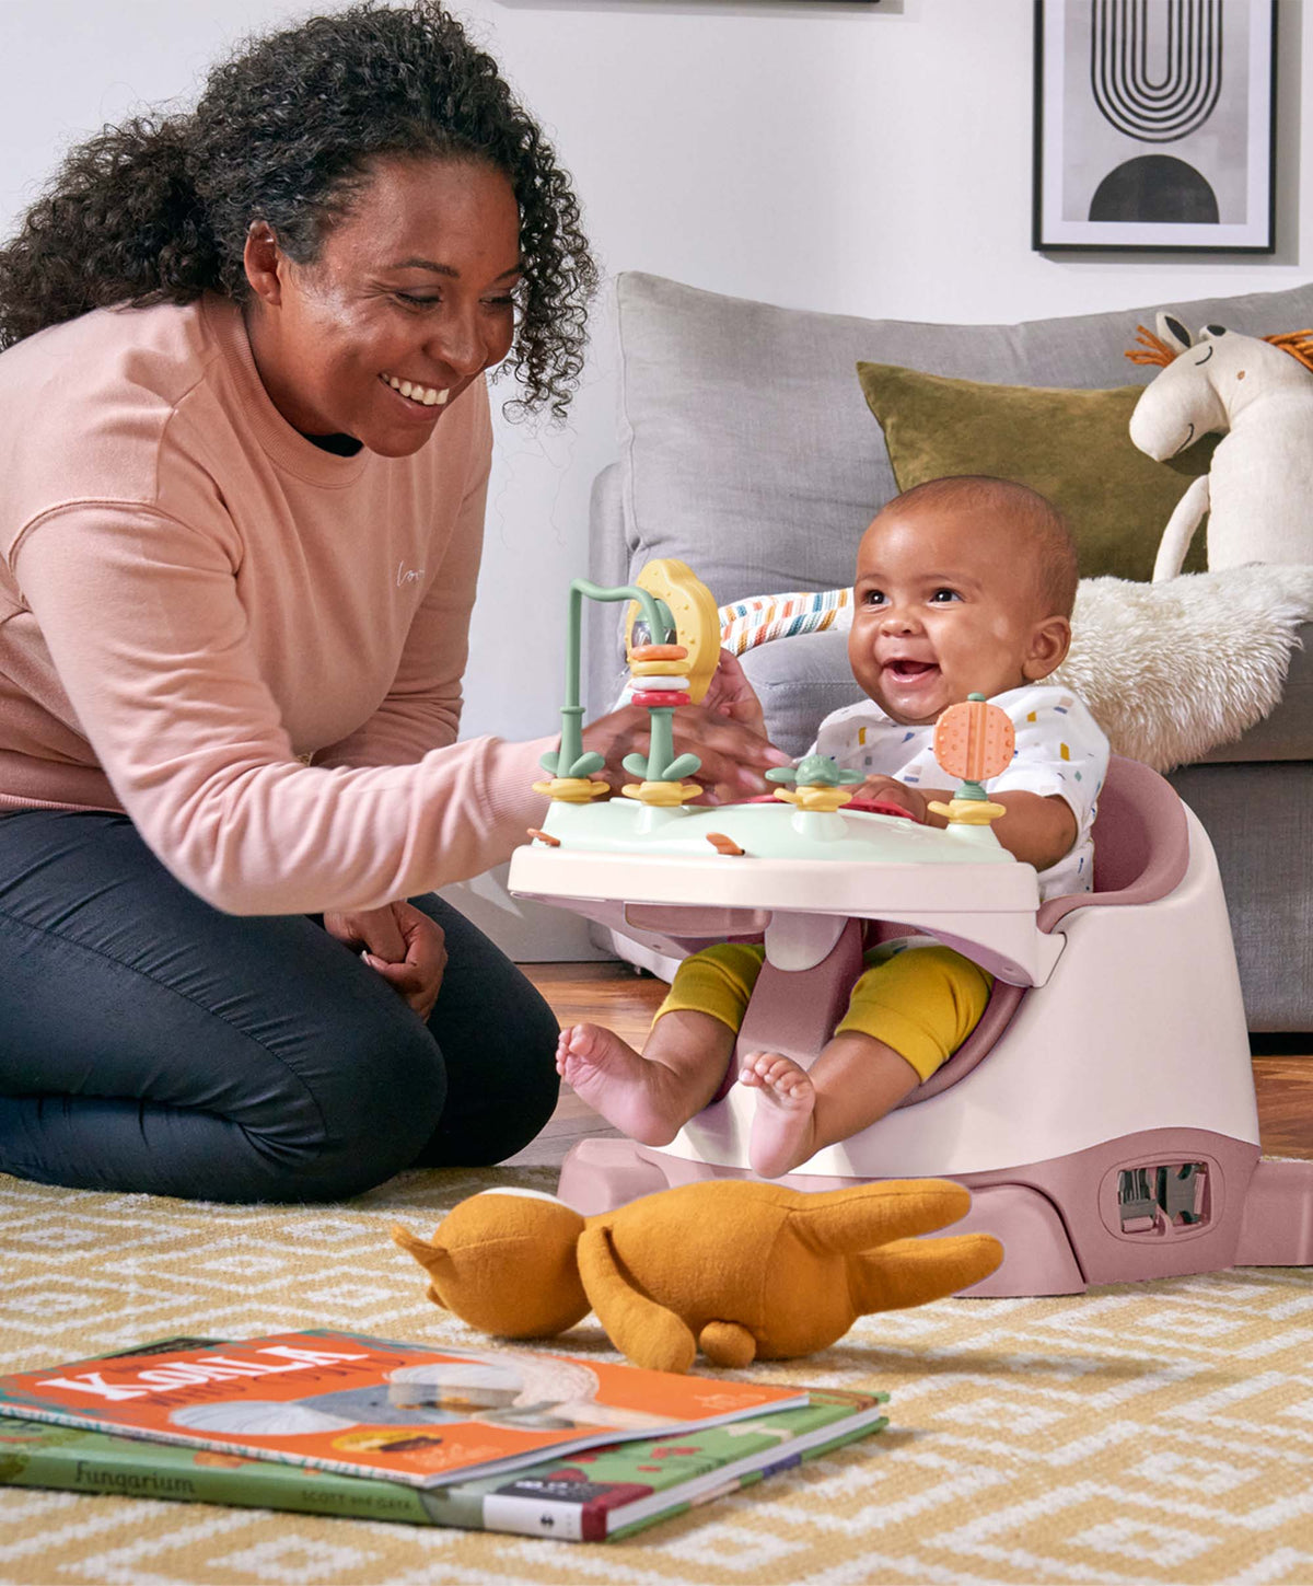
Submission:
[[[555,1172],[411,1174],[330,1209],[0,1177],[0,1372],[181,1332],[468,1343],[387,1229],[427,1235],[512,1180],[550,1190]],[[591,1324],[568,1347],[609,1356]],[[0,1583],[1313,1581],[1313,1274],[945,1301],[756,1370],[888,1389],[890,1429],[612,1545],[0,1489]]]

